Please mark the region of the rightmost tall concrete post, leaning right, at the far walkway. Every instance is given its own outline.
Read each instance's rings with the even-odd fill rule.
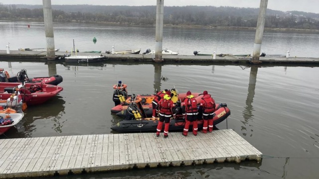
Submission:
[[[252,63],[259,62],[261,41],[263,39],[263,34],[264,34],[267,4],[268,4],[268,0],[260,0]]]

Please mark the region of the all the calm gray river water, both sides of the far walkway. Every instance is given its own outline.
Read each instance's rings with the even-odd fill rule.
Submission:
[[[0,45],[5,49],[45,47],[43,25],[0,22]],[[154,48],[154,27],[103,27],[89,24],[56,24],[55,47],[70,49],[75,39],[80,51]],[[41,32],[41,33],[40,33]],[[181,54],[193,50],[245,54],[252,51],[254,32],[165,27],[163,46]],[[41,35],[43,34],[43,36]],[[97,43],[92,42],[96,36]],[[266,54],[318,57],[319,34],[265,32]],[[168,43],[169,42],[169,43]],[[219,44],[219,45],[216,45]],[[134,46],[134,47],[133,47]],[[220,51],[219,51],[220,50]],[[262,163],[222,163],[202,166],[131,170],[60,177],[99,179],[130,176],[183,175],[187,179],[316,179],[319,163],[319,67],[232,66],[183,64],[132,64],[103,62],[89,66],[55,63],[6,62],[0,67],[11,76],[21,69],[29,77],[48,76],[56,69],[64,88],[56,97],[39,106],[29,106],[25,117],[1,138],[43,137],[82,134],[110,134],[121,118],[111,114],[112,86],[119,80],[130,93],[153,93],[156,89],[179,92],[208,90],[218,103],[231,110],[228,128],[234,129],[265,156]],[[50,72],[52,73],[52,72]],[[166,77],[162,81],[160,77]],[[226,129],[226,121],[216,126]]]

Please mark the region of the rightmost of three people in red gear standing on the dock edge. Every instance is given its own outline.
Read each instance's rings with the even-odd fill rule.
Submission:
[[[215,100],[211,97],[210,94],[205,90],[203,92],[203,97],[201,98],[200,104],[199,104],[199,109],[198,112],[199,114],[202,114],[203,118],[203,133],[207,133],[207,128],[208,132],[213,131],[213,117],[214,117],[214,112],[215,112]]]

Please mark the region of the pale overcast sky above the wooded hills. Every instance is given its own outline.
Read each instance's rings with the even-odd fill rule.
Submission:
[[[156,5],[157,0],[51,0],[56,4]],[[0,0],[3,4],[42,4],[42,0]],[[258,8],[260,0],[164,0],[165,6],[212,5]],[[319,0],[268,0],[269,9],[319,13]]]

